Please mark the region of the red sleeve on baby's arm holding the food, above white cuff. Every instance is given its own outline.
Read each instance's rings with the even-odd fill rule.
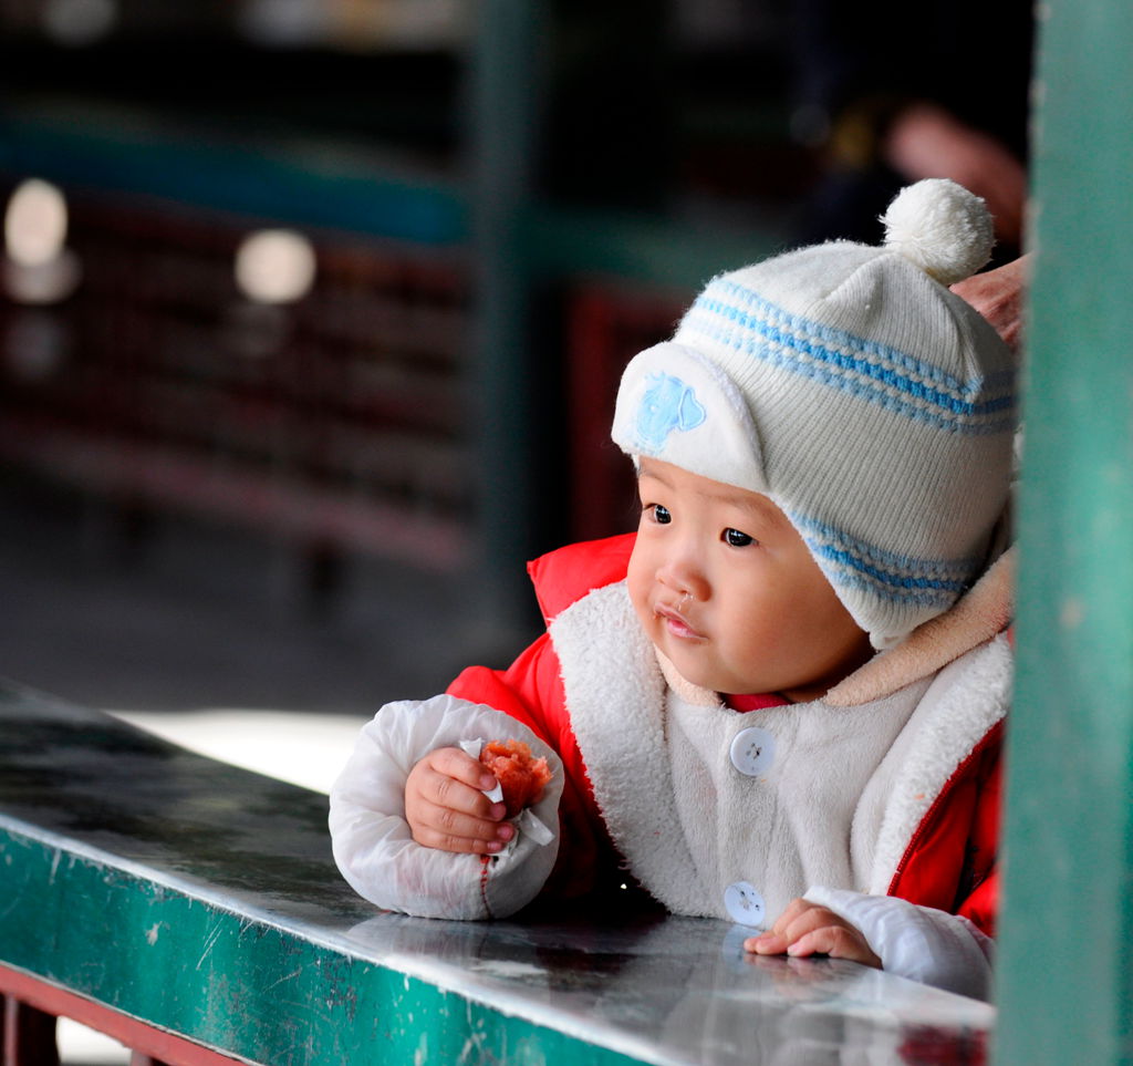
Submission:
[[[450,695],[510,714],[562,759],[565,780],[559,806],[559,858],[544,895],[576,897],[591,892],[599,881],[616,872],[619,858],[598,813],[570,726],[559,658],[551,637],[544,634],[506,670],[469,667],[448,691]]]

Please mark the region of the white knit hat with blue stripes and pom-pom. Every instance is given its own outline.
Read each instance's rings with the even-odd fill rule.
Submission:
[[[904,189],[883,247],[832,242],[713,279],[636,356],[613,439],[770,497],[874,645],[946,610],[1007,500],[1015,363],[947,286],[990,254],[983,201]]]

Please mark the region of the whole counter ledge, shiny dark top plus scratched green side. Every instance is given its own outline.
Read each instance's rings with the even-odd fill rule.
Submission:
[[[982,1063],[994,1008],[702,919],[377,912],[326,797],[0,686],[0,963],[253,1063]]]

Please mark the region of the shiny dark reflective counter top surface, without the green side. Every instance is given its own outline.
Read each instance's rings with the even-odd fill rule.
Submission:
[[[722,922],[378,913],[339,877],[325,819],[318,793],[0,684],[0,829],[642,1061],[986,1059],[991,1007],[849,963],[748,957]]]

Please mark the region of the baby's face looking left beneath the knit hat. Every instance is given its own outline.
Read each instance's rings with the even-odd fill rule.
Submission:
[[[870,657],[866,633],[767,497],[648,458],[638,488],[630,599],[682,677],[801,702]]]

